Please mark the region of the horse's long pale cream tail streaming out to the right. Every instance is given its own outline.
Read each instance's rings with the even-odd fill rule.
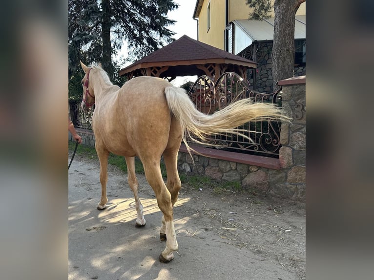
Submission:
[[[182,88],[166,87],[165,96],[171,113],[182,125],[182,140],[186,144],[188,152],[191,148],[186,140],[187,135],[197,136],[200,140],[191,139],[198,143],[204,143],[209,135],[222,133],[233,133],[249,139],[248,136],[241,133],[242,130],[237,129],[238,126],[249,121],[259,120],[289,121],[287,117],[282,115],[279,107],[269,103],[254,103],[249,99],[238,100],[212,115],[206,115],[196,109]]]

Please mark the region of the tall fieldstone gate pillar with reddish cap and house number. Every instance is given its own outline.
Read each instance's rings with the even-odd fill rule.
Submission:
[[[279,161],[286,174],[284,188],[293,199],[305,200],[306,125],[305,76],[281,80],[282,108],[291,123],[281,125]]]

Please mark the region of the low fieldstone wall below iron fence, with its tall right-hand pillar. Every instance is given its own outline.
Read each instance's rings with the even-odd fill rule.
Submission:
[[[189,154],[183,152],[178,155],[178,170],[205,175],[214,180],[240,182],[243,188],[305,201],[305,76],[278,84],[282,85],[282,106],[292,119],[291,124],[282,123],[281,126],[279,170],[200,155],[193,155],[193,163]]]

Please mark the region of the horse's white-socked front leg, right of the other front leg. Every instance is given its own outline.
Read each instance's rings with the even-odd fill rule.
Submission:
[[[130,186],[131,190],[134,193],[135,198],[135,209],[137,213],[137,218],[135,222],[135,226],[145,226],[145,219],[143,216],[143,205],[139,200],[138,196],[138,180],[136,179],[135,174],[135,158],[134,157],[125,157],[126,165],[127,165],[127,181],[128,185]]]

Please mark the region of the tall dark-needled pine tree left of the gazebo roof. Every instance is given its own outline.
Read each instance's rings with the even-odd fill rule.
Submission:
[[[69,0],[69,77],[79,60],[101,61],[111,79],[118,65],[112,57],[124,41],[128,60],[136,60],[171,42],[167,28],[174,20],[167,12],[178,4],[173,0]]]

